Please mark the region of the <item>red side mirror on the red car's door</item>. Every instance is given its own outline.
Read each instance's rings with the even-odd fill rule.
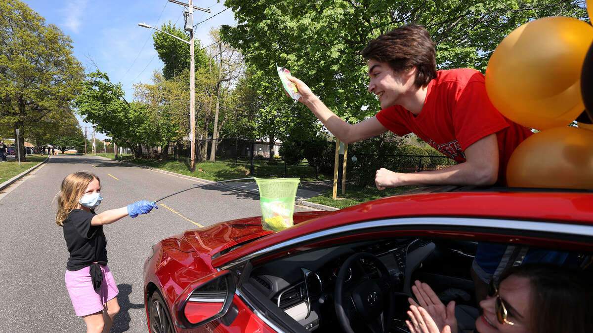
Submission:
[[[224,316],[235,296],[230,271],[218,271],[190,283],[173,304],[176,325],[196,328]]]

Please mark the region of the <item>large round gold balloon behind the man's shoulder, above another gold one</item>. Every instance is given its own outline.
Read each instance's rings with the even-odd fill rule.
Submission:
[[[508,119],[532,129],[567,126],[585,109],[580,78],[591,41],[593,27],[576,18],[521,25],[490,57],[490,101]]]

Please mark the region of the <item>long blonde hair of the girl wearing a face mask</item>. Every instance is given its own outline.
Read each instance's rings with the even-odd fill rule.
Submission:
[[[56,225],[64,225],[68,214],[78,206],[78,201],[80,201],[88,184],[95,179],[100,185],[101,180],[99,180],[99,177],[88,171],[76,171],[64,178],[60,192],[57,195],[58,213],[56,214]]]

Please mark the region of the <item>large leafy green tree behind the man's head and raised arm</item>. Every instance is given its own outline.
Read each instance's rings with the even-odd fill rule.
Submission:
[[[550,15],[586,17],[584,0],[226,0],[225,6],[232,9],[238,25],[223,25],[222,39],[243,53],[250,68],[266,76],[261,78],[260,95],[291,104],[282,91],[270,88],[274,80],[279,82],[274,70],[278,63],[350,123],[379,110],[374,95],[367,92],[360,54],[370,40],[393,28],[411,22],[425,25],[436,43],[439,69],[484,71],[495,47],[518,25]],[[280,113],[291,110],[273,108]]]

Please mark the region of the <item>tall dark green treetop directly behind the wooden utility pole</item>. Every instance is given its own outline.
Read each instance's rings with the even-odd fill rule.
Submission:
[[[189,36],[183,30],[171,24],[171,21],[163,23],[161,30],[189,41]],[[165,63],[165,66],[162,68],[162,74],[165,76],[165,79],[171,79],[185,69],[189,69],[190,51],[187,43],[174,39],[167,34],[161,33],[161,31],[155,32],[152,35],[152,40],[154,41],[154,49],[157,50],[158,57]],[[194,49],[194,66],[197,71],[197,69],[207,66],[208,57],[205,51],[201,50],[200,40],[194,39]]]

